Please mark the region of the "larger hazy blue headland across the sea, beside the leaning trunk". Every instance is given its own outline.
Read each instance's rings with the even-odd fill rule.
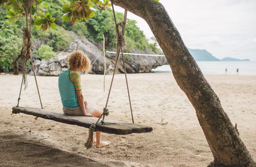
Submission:
[[[211,53],[207,52],[207,50],[201,49],[192,49],[188,48],[189,53],[194,57],[195,61],[221,61],[214,57]]]

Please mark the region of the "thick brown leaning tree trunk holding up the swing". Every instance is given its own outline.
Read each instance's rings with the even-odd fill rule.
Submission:
[[[112,2],[143,18],[150,26],[172,68],[175,80],[196,110],[214,156],[214,162],[209,166],[256,166],[224,112],[220,99],[189,54],[163,5],[154,0]]]

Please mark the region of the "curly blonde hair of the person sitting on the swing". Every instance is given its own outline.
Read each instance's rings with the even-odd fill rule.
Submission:
[[[68,68],[77,68],[83,73],[88,73],[91,69],[91,61],[81,51],[75,51],[68,56]]]

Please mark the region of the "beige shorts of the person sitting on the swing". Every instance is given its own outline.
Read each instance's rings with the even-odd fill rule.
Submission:
[[[92,105],[88,105],[88,103],[85,106],[85,112],[88,115],[91,115],[93,113],[94,110],[97,110],[97,108],[95,108]],[[76,115],[76,116],[84,116],[82,110],[80,107],[77,108],[67,108],[65,106],[63,106],[63,112],[67,115]]]

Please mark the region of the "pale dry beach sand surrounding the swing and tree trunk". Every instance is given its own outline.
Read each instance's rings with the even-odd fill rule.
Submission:
[[[256,159],[256,76],[206,75],[241,139]],[[61,112],[58,77],[37,76],[47,110]],[[128,75],[134,120],[152,126],[152,133],[103,134],[111,145],[84,149],[88,129],[12,114],[21,76],[0,76],[0,166],[207,166],[211,150],[195,109],[170,73]],[[98,108],[108,96],[111,76],[83,75],[83,94]],[[33,76],[22,89],[20,106],[40,108]],[[107,119],[131,122],[124,75],[115,76]],[[157,124],[161,121],[166,124]],[[132,163],[129,163],[132,162]],[[141,164],[141,165],[140,165]]]

